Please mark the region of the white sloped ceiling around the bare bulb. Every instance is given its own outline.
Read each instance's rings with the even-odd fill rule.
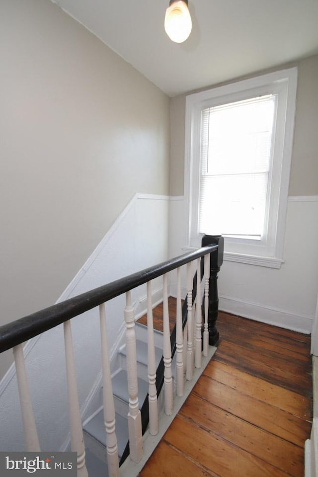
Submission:
[[[52,0],[169,96],[318,54],[318,0],[189,0],[182,44],[168,0]]]

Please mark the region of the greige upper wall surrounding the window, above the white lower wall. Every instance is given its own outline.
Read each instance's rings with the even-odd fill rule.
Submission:
[[[289,195],[318,195],[318,55],[253,76],[292,66],[298,67],[298,87]],[[181,94],[171,98],[171,195],[183,194],[185,97],[186,94]]]

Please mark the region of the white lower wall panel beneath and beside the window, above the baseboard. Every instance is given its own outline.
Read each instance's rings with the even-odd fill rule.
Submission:
[[[180,254],[186,243],[185,204],[176,199],[170,206],[170,256]],[[225,259],[218,280],[220,310],[311,333],[318,293],[317,217],[318,196],[289,198],[280,269]],[[173,274],[170,283],[173,294]]]

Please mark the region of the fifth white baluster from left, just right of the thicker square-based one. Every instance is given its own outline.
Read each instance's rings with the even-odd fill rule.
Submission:
[[[149,431],[152,436],[158,434],[158,403],[156,388],[156,355],[154,320],[151,296],[151,282],[147,283],[147,333],[148,333],[148,402],[149,402]]]

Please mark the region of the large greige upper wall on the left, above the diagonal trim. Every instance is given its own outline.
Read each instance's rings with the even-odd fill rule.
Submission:
[[[1,1],[0,44],[3,324],[52,305],[136,192],[168,193],[169,98],[49,0]]]

